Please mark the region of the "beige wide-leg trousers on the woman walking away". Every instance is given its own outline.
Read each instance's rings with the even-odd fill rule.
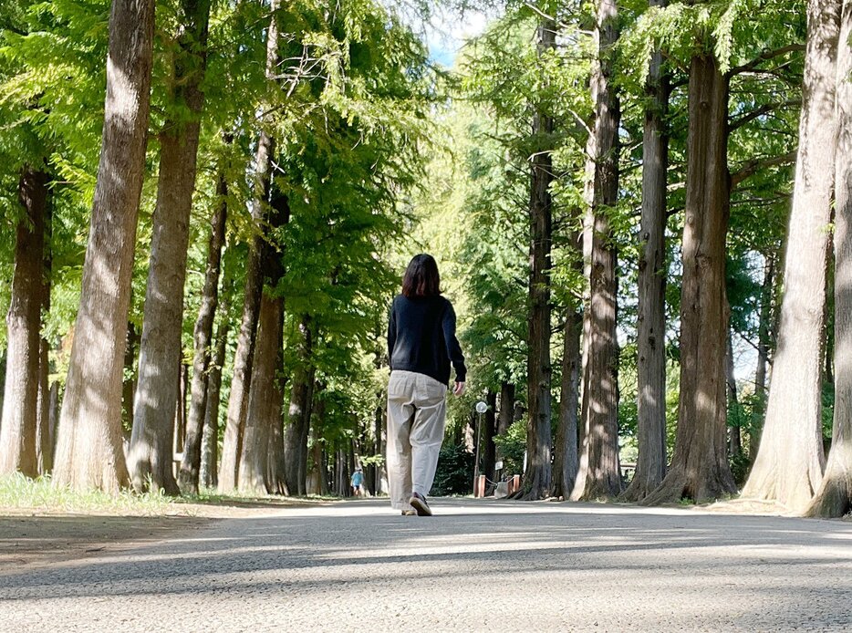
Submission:
[[[446,385],[413,371],[390,372],[388,484],[397,510],[410,509],[411,493],[429,493],[446,417]]]

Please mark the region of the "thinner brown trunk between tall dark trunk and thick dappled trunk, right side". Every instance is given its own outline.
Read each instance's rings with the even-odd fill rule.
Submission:
[[[568,306],[565,317],[565,345],[562,349],[562,389],[559,396],[559,426],[556,429],[554,456],[555,497],[567,499],[574,489],[579,469],[577,451],[577,426],[579,407],[579,378],[582,364],[580,330],[583,314],[575,306]]]

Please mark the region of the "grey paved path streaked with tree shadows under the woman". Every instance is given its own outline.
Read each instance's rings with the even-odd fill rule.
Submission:
[[[852,524],[356,501],[0,576],[3,631],[852,630]],[[263,511],[260,511],[263,512]]]

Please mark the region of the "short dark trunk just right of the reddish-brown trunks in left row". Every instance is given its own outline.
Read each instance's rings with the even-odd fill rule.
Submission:
[[[302,442],[307,437],[305,425],[310,424],[311,391],[314,381],[313,360],[311,358],[313,333],[309,316],[302,316],[298,328],[296,368],[293,374],[293,386],[290,392],[290,408],[284,436],[285,483],[287,494],[305,494],[305,481],[302,474]]]

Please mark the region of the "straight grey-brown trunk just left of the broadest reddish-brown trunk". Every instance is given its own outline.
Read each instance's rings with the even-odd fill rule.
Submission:
[[[648,5],[663,7],[668,0],[649,0]],[[666,474],[665,231],[669,135],[665,119],[669,109],[669,76],[663,70],[659,50],[651,56],[645,97],[636,367],[639,458],[633,480],[622,495],[625,501],[644,499]]]

